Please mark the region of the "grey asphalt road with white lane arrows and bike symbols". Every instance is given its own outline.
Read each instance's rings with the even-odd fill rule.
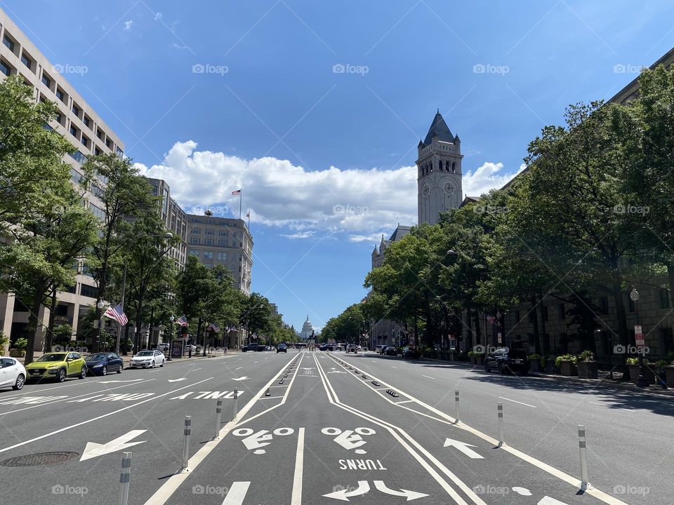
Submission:
[[[129,504],[670,505],[673,413],[667,397],[376,354],[173,361],[0,391],[0,504],[117,504],[130,451]],[[68,459],[34,464],[44,452]]]

